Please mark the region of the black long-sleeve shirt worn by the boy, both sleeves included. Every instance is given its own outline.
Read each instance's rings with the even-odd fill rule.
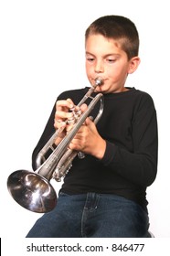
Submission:
[[[58,96],[58,100],[70,98],[77,104],[86,91],[88,88],[65,91]],[[83,159],[77,156],[64,178],[61,191],[68,194],[115,194],[132,199],[146,209],[146,187],[154,182],[157,172],[158,139],[154,101],[146,92],[134,88],[103,96],[104,111],[97,129],[106,141],[105,154],[101,160],[91,155]],[[33,152],[34,169],[38,151],[55,131],[55,111],[54,106]]]

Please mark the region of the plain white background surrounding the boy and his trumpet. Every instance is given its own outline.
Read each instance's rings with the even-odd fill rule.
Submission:
[[[170,238],[169,11],[168,1],[0,2],[0,207],[2,238],[24,238],[40,217],[10,197],[7,177],[31,170],[31,154],[61,91],[89,85],[84,68],[84,32],[104,15],[127,16],[138,28],[142,62],[127,85],[154,99],[159,128],[159,164],[147,190],[151,231]],[[60,186],[60,185],[58,185]]]

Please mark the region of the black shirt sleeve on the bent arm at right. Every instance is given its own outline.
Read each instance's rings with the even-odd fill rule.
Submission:
[[[103,165],[142,187],[150,186],[157,173],[157,118],[154,101],[145,94],[133,113],[133,152],[106,142]]]

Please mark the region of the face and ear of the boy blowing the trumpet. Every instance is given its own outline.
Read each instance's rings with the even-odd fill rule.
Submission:
[[[94,85],[98,77],[103,80],[103,84],[97,86],[95,91],[102,93],[126,91],[124,84],[127,75],[133,73],[134,68],[137,69],[140,59],[136,57],[128,60],[127,54],[116,40],[100,34],[90,35],[86,40],[85,48],[86,73],[90,84]]]

